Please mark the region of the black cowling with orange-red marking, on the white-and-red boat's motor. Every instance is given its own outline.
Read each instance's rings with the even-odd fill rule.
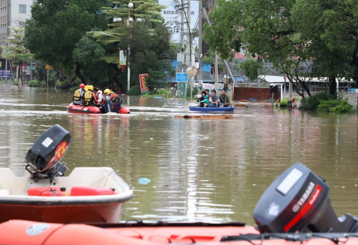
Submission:
[[[35,141],[25,159],[39,173],[43,173],[63,158],[71,142],[70,133],[56,124]]]

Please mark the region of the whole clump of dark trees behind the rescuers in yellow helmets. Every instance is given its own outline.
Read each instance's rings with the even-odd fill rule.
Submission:
[[[36,87],[43,86],[47,80],[44,67],[50,64],[49,87],[71,89],[67,84],[78,87],[84,83],[138,94],[135,86],[139,85],[139,74],[148,73],[147,86],[161,88],[167,74],[174,73],[171,59],[163,59],[162,55],[176,53],[179,46],[172,44],[171,29],[161,17],[165,6],[157,0],[131,2],[134,24],[128,28],[113,23],[113,18],[128,17],[126,0],[87,0],[86,4],[78,0],[35,1],[25,28],[14,30],[19,33],[16,34],[19,40],[8,40],[9,43],[15,40],[19,45],[8,49],[6,58],[18,64],[30,59],[38,61],[37,81],[31,83]],[[139,18],[145,21],[136,21]],[[127,52],[129,45],[130,87],[135,88],[125,91],[127,66],[118,65],[118,50]]]

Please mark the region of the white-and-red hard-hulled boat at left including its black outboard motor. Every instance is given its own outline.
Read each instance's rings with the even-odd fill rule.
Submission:
[[[16,177],[0,168],[0,222],[25,219],[41,222],[120,221],[123,204],[133,190],[111,168],[67,167],[60,160],[72,138],[56,124],[44,132],[26,155],[29,175]]]

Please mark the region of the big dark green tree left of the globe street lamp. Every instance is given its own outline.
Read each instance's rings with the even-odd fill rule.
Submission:
[[[73,52],[88,31],[106,28],[108,20],[100,11],[106,4],[107,0],[37,0],[26,21],[25,47],[36,59],[75,73],[86,83],[84,64],[74,60]]]

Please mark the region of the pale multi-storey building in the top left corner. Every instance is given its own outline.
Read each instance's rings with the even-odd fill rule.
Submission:
[[[10,35],[10,26],[25,26],[31,18],[31,6],[36,0],[0,0],[0,42]]]

